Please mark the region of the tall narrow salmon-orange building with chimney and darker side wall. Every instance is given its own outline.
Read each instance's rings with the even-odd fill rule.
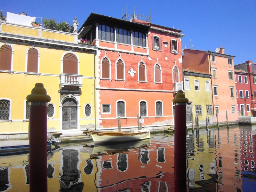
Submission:
[[[182,67],[211,75],[210,86],[213,107],[213,123],[226,122],[237,124],[236,85],[234,78],[235,56],[224,53],[224,48],[216,52],[184,49]]]

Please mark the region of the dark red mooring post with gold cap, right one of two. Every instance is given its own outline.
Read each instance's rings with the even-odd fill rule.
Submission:
[[[175,104],[174,119],[174,191],[187,191],[187,133],[186,104],[183,91],[179,90],[172,100]]]

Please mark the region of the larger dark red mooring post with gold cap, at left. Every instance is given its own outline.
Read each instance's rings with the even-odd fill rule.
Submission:
[[[29,113],[29,191],[47,192],[47,102],[44,84],[36,83],[27,96]]]

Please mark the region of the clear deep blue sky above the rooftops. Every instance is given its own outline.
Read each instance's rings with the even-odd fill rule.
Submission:
[[[66,20],[72,23],[74,17],[80,26],[91,12],[122,18],[125,6],[127,13],[150,16],[154,24],[180,29],[182,45],[196,44],[195,49],[215,51],[223,44],[225,54],[236,56],[234,63],[252,60],[256,63],[256,1],[255,0],[1,0],[4,12],[28,16]],[[39,18],[36,18],[40,21]],[[78,26],[78,28],[80,27]],[[182,47],[184,48],[184,47]],[[190,48],[190,47],[187,47]]]

